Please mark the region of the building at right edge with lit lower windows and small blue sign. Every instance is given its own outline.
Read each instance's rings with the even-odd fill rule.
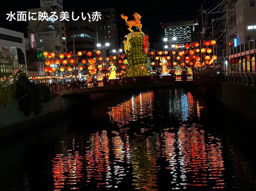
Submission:
[[[255,0],[230,0],[226,2],[228,72],[256,72],[256,11]]]

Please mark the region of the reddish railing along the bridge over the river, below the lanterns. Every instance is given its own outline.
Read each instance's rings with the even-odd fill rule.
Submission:
[[[173,77],[172,76],[140,76],[140,77],[108,79],[106,81],[105,80],[81,81],[81,82],[75,82],[75,83],[61,84],[58,91],[73,90],[73,89],[80,89],[80,88],[93,88],[93,87],[106,86],[106,85],[197,80],[199,78],[200,78],[200,74],[182,74],[182,75],[176,75]]]

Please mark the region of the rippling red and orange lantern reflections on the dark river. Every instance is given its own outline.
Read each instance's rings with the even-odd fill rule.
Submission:
[[[118,188],[128,174],[132,174],[132,185],[136,190],[157,190],[161,186],[158,179],[163,163],[167,164],[164,171],[168,181],[161,184],[166,187],[225,187],[221,141],[206,135],[197,124],[181,121],[177,129],[166,127],[150,134],[141,126],[130,137],[125,124],[150,117],[154,109],[153,97],[153,92],[141,93],[111,107],[111,121],[122,128],[92,134],[89,146],[83,148],[83,156],[72,150],[66,155],[57,155],[53,159],[56,190],[72,184],[72,189],[79,188],[77,183],[82,178],[85,186]],[[174,101],[177,101],[174,105],[184,105],[181,112],[172,108],[176,115],[189,119],[189,115],[196,111],[196,117],[200,116],[200,106],[191,93],[183,97],[182,103],[178,99]]]

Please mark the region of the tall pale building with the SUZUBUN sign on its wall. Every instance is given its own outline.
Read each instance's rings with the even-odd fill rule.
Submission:
[[[50,2],[50,3],[49,3]],[[63,11],[62,1],[40,1],[40,8],[28,9],[28,37],[31,39],[30,48],[44,48],[48,52],[66,52],[65,23],[60,21],[60,12]],[[55,19],[52,16],[55,12]],[[41,13],[47,13],[46,19],[40,19]],[[33,18],[33,19],[32,19]],[[57,19],[56,19],[57,18]]]

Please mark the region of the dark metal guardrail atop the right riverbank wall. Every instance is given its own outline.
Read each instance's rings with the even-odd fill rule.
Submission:
[[[220,81],[255,87],[255,72],[220,72]]]

